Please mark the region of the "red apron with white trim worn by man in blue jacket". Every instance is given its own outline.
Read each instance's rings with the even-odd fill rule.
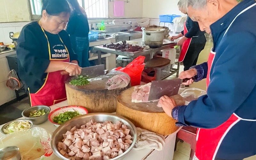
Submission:
[[[208,59],[208,72],[206,77],[206,87],[210,84],[210,72],[215,52],[210,53]],[[220,144],[228,131],[240,120],[240,118],[232,114],[231,117],[214,129],[197,129],[196,134],[196,152],[193,160],[214,160],[219,150]]]

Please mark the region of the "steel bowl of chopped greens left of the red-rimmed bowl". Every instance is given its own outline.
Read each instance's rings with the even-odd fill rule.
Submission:
[[[29,117],[30,112],[32,112],[34,110],[38,110],[38,109],[44,109],[46,114],[42,115],[40,117]],[[34,106],[34,107],[27,108],[22,111],[21,115],[25,119],[31,120],[34,124],[41,124],[48,120],[48,115],[49,115],[50,111],[51,111],[50,107],[41,105],[41,106]]]

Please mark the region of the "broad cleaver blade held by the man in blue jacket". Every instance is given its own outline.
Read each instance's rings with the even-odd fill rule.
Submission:
[[[159,100],[164,95],[170,97],[178,94],[182,81],[181,79],[152,81],[148,101]]]

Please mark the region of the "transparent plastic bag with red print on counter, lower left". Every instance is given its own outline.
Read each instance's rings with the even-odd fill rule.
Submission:
[[[34,127],[1,137],[0,148],[17,146],[22,160],[53,160],[56,156],[51,148],[51,137],[47,130]]]

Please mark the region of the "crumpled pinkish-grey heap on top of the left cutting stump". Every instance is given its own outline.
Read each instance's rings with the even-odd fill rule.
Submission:
[[[127,76],[123,74],[116,75],[108,80],[107,85],[108,90],[113,90],[117,88],[125,88],[130,83],[130,80]]]

